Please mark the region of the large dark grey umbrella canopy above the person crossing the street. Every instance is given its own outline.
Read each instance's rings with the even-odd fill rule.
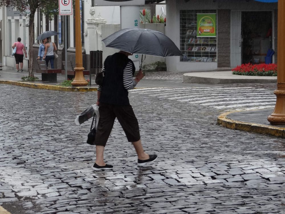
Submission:
[[[160,31],[126,28],[102,40],[106,47],[134,54],[183,56],[174,42]]]

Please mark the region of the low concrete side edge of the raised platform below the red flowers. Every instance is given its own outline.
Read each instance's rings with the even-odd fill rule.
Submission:
[[[184,83],[196,84],[235,84],[235,83],[276,83],[275,79],[221,79],[183,75]]]

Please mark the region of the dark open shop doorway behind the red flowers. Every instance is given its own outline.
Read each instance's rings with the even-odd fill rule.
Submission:
[[[264,57],[272,47],[272,12],[242,12],[241,36],[242,63],[264,63]]]

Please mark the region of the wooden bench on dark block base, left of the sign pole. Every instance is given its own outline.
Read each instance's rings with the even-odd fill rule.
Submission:
[[[57,82],[57,74],[61,73],[61,69],[47,68],[45,61],[37,61],[37,62],[39,69],[36,69],[36,72],[42,74],[42,81]]]

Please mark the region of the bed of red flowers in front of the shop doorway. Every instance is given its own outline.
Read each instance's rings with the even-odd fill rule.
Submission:
[[[235,75],[277,76],[277,64],[241,64],[232,69]]]

